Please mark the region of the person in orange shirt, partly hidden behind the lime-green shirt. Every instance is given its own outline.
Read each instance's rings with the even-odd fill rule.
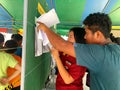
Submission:
[[[18,43],[15,40],[7,40],[5,42],[4,47],[9,48],[8,50],[6,50],[6,52],[11,54],[15,58],[15,60],[17,60],[18,63],[21,65],[21,57],[14,54],[15,51],[17,50]],[[15,71],[16,71],[16,69],[9,67],[7,69],[8,77],[11,76]],[[10,80],[9,84],[12,86],[11,90],[20,90],[20,81],[21,81],[21,75],[20,74],[17,75],[12,80]]]

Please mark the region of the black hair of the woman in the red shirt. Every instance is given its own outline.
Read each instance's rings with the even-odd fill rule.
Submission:
[[[73,27],[70,29],[69,32],[73,31],[74,32],[74,37],[75,37],[75,41],[76,43],[85,43],[85,29],[81,28],[81,27]]]

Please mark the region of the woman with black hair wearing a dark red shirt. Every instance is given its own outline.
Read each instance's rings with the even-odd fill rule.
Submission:
[[[85,43],[85,30],[80,27],[73,27],[69,31],[68,41]],[[75,57],[64,52],[58,52],[54,48],[51,50],[57,63],[58,74],[56,79],[56,90],[83,90],[82,79],[86,68],[76,64]]]

